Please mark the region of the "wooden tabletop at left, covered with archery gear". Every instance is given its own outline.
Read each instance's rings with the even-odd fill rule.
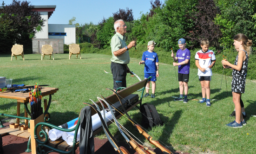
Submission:
[[[42,96],[47,96],[56,93],[59,90],[59,88],[51,88],[51,87],[42,87],[41,92]],[[20,93],[20,92],[0,92],[1,98],[10,98],[10,99],[16,99],[20,103],[26,103],[29,102],[29,92],[26,93]]]

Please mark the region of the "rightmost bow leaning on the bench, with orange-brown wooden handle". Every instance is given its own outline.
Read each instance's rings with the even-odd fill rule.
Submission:
[[[111,89],[107,89],[107,90],[111,90]],[[111,90],[111,91],[114,92],[114,94],[118,97],[119,102],[121,102],[121,100],[120,100],[118,94],[117,94],[114,90]],[[148,135],[138,124],[135,124],[136,122],[135,122],[134,120],[132,120],[131,117],[128,115],[128,113],[127,113],[127,111],[126,111],[126,109],[125,109],[125,107],[123,106],[122,103],[121,103],[121,106],[122,106],[122,108],[123,108],[125,114],[126,114],[127,117],[129,118],[130,122],[133,124],[133,126],[136,128],[136,130],[137,130],[140,134],[144,135],[144,137],[145,137],[151,144],[153,144],[154,146],[158,147],[164,154],[173,154],[173,153],[171,153],[171,151],[170,151],[169,149],[167,149],[167,148],[165,148],[163,145],[161,145],[161,144],[159,143],[159,141],[153,140],[152,137],[151,137],[150,135]],[[119,112],[119,111],[118,111],[118,112]],[[123,114],[122,114],[122,115],[123,115]]]

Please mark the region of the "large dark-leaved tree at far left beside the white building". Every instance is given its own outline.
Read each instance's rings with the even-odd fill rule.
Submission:
[[[33,8],[34,6],[27,1],[13,0],[8,6],[4,2],[2,3],[2,9],[0,9],[0,27],[2,30],[0,35],[9,38],[2,40],[2,43],[6,45],[21,44],[24,45],[25,50],[32,51],[32,38],[36,32],[41,30],[45,22],[40,13],[33,11]],[[12,45],[4,51],[10,52]]]

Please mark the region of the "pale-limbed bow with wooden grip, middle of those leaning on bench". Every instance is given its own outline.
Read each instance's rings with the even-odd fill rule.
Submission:
[[[101,103],[101,105],[103,106],[103,103],[101,101],[104,101],[107,106],[108,106],[108,109],[110,110],[111,114],[112,114],[112,117],[114,119],[114,122],[116,123],[116,126],[118,127],[118,130],[120,131],[121,135],[123,135],[123,137],[125,138],[125,140],[127,141],[127,143],[130,145],[131,148],[133,148],[135,151],[137,151],[139,154],[156,154],[155,152],[151,151],[149,148],[147,147],[144,147],[142,145],[140,145],[137,141],[135,141],[134,139],[131,138],[131,136],[126,132],[126,130],[124,129],[124,127],[121,127],[122,125],[118,122],[118,120],[116,119],[113,111],[112,111],[112,108],[110,106],[109,103],[107,103],[105,101],[105,99],[102,99],[102,98],[99,98],[97,97],[98,101]],[[104,106],[103,106],[104,108]],[[114,108],[114,107],[113,107]],[[115,109],[115,108],[114,108]],[[120,126],[121,125],[121,126]],[[131,138],[131,140],[128,139],[128,137],[124,134],[127,134],[129,135],[129,137]]]

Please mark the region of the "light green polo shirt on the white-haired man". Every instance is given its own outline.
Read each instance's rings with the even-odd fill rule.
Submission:
[[[127,46],[125,43],[125,36],[117,32],[111,39],[112,62],[118,64],[129,64],[130,56],[128,50],[120,56],[115,56],[113,53],[114,51],[124,48],[125,46]]]

